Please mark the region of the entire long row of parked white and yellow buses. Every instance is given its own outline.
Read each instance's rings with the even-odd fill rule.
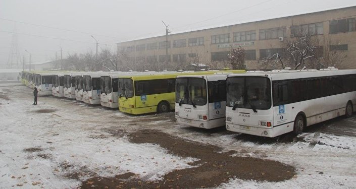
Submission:
[[[176,121],[276,137],[349,117],[356,105],[356,70],[206,72],[23,72],[22,82],[51,94],[129,114],[169,112]]]

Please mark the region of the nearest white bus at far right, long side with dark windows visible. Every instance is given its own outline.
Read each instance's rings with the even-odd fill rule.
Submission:
[[[356,70],[287,71],[229,75],[226,129],[276,137],[337,116],[356,105]]]

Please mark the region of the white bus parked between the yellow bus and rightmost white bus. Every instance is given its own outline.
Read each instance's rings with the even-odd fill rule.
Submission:
[[[176,121],[204,129],[225,125],[226,76],[178,76]]]

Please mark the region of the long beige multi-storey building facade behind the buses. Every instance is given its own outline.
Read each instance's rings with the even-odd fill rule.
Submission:
[[[231,47],[241,46],[247,70],[259,70],[262,59],[285,53],[301,35],[313,39],[320,61],[337,54],[329,66],[356,69],[356,7],[171,34],[168,40],[163,35],[120,42],[117,47],[137,68],[180,70],[190,64],[229,67]]]

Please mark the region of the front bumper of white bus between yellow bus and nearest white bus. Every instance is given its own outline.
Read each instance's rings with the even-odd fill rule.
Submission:
[[[225,125],[225,117],[221,117],[213,120],[201,121],[201,120],[186,119],[183,117],[176,116],[176,122],[179,124],[189,125],[195,128],[213,129]]]

